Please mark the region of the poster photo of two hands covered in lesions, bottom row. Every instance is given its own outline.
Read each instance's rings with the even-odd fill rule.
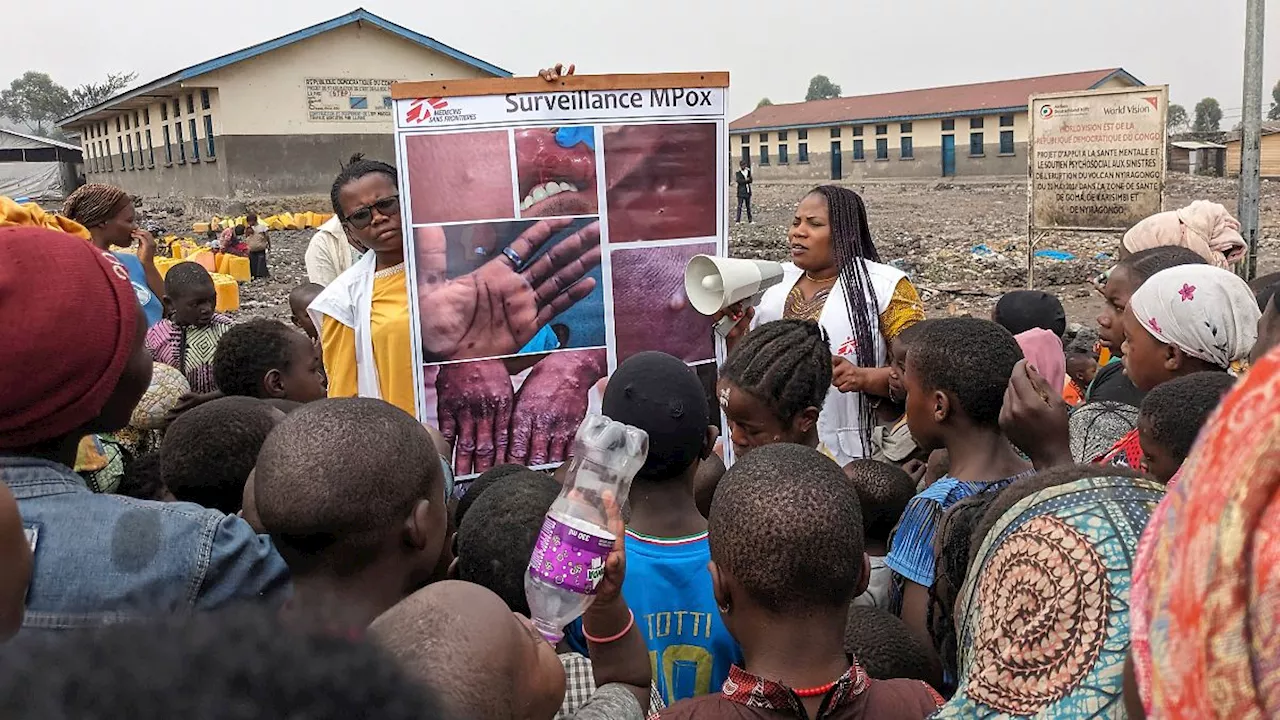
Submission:
[[[607,369],[604,348],[429,366],[426,420],[453,446],[460,477],[563,462]]]

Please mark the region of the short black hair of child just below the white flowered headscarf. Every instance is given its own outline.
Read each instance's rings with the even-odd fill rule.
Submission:
[[[1235,378],[1212,372],[1160,383],[1143,398],[1139,418],[1147,418],[1151,439],[1185,460],[1201,428],[1233,386]]]

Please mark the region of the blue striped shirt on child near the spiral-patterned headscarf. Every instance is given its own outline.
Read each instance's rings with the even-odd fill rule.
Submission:
[[[1002,480],[969,483],[946,475],[911,498],[893,529],[884,564],[908,580],[933,587],[933,538],[938,523],[948,507],[961,500],[987,491],[1002,489],[1009,483],[1027,475],[1021,473]]]

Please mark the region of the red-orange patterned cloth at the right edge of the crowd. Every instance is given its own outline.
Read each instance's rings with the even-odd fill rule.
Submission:
[[[1148,716],[1280,715],[1280,350],[1222,401],[1157,520],[1134,607]]]

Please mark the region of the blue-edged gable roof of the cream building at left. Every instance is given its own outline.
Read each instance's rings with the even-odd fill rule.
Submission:
[[[348,26],[348,24],[357,23],[357,22],[366,22],[366,23],[369,23],[369,24],[371,24],[374,27],[378,27],[378,28],[384,29],[387,32],[390,32],[393,35],[398,35],[398,36],[403,37],[404,40],[408,40],[410,42],[416,42],[416,44],[419,44],[419,45],[421,45],[424,47],[429,47],[431,50],[435,50],[436,53],[440,53],[442,55],[448,55],[449,58],[453,58],[454,60],[458,60],[461,63],[466,63],[467,65],[471,65],[472,68],[476,68],[479,70],[489,73],[489,74],[492,74],[494,77],[511,77],[511,72],[509,70],[504,70],[504,69],[499,68],[498,65],[492,65],[492,64],[489,64],[489,63],[486,63],[486,61],[484,61],[484,60],[481,60],[479,58],[475,58],[472,55],[467,55],[466,53],[463,53],[461,50],[457,50],[454,47],[451,47],[451,46],[448,46],[448,45],[438,41],[438,40],[430,38],[430,37],[428,37],[425,35],[413,32],[413,31],[411,31],[411,29],[408,29],[406,27],[398,26],[398,24],[396,24],[396,23],[393,23],[390,20],[380,18],[380,17],[370,13],[369,10],[366,10],[364,8],[357,8],[357,9],[352,10],[351,13],[347,13],[346,15],[334,18],[332,20],[325,20],[323,23],[302,28],[302,29],[300,29],[297,32],[291,32],[289,35],[284,35],[284,36],[276,37],[275,40],[268,40],[266,42],[260,42],[257,45],[252,45],[252,46],[246,47],[243,50],[237,50],[236,53],[230,53],[230,54],[223,55],[220,58],[214,58],[212,60],[206,60],[204,63],[200,63],[198,65],[192,65],[189,68],[184,68],[184,69],[178,70],[175,73],[168,74],[168,76],[160,78],[160,79],[151,81],[151,82],[148,82],[148,83],[146,83],[146,85],[143,85],[141,87],[136,87],[136,88],[133,88],[133,90],[131,90],[128,92],[122,92],[120,95],[116,95],[115,97],[109,97],[108,100],[104,100],[102,102],[99,102],[97,105],[93,105],[92,108],[81,110],[79,113],[76,113],[74,115],[63,118],[61,120],[59,120],[58,124],[59,124],[59,127],[65,127],[65,126],[74,124],[78,120],[88,118],[90,115],[93,115],[93,114],[100,113],[102,110],[108,110],[108,109],[110,109],[110,108],[113,108],[115,105],[119,105],[120,102],[124,102],[127,100],[132,100],[132,99],[138,97],[138,96],[152,94],[152,92],[155,92],[157,90],[161,90],[161,88],[165,88],[168,86],[172,86],[172,85],[175,85],[175,83],[191,79],[191,78],[197,77],[197,76],[202,76],[205,73],[214,72],[214,70],[220,69],[220,68],[225,68],[227,65],[230,65],[233,63],[239,63],[241,60],[248,60],[250,58],[256,58],[256,56],[259,56],[259,55],[261,55],[264,53],[270,53],[271,50],[276,50],[279,47],[284,47],[285,45],[292,45],[292,44],[298,42],[301,40],[307,40],[307,38],[315,37],[315,36],[317,36],[317,35],[320,35],[323,32],[329,32],[330,29],[337,29],[339,27]]]

